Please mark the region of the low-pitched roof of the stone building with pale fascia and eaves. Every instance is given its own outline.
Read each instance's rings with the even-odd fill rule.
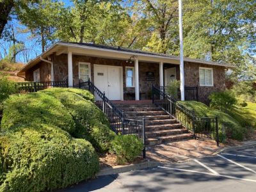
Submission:
[[[40,62],[40,58],[45,57],[49,54],[54,52],[56,47],[76,47],[81,49],[93,49],[95,51],[108,51],[108,52],[121,52],[124,54],[132,54],[134,56],[148,56],[150,58],[162,58],[162,59],[172,59],[172,60],[179,60],[179,56],[173,56],[170,54],[162,54],[157,52],[149,52],[149,51],[141,51],[138,49],[128,49],[125,47],[115,47],[110,45],[99,45],[99,44],[92,44],[92,43],[77,43],[77,42],[57,42],[52,47],[47,49],[47,51],[40,54],[40,56],[36,57],[34,60],[30,61],[27,65],[25,65],[20,72],[18,72],[17,76],[22,76],[22,74],[28,70],[29,68],[33,67],[37,63]],[[218,65],[227,68],[234,68],[234,65],[230,65],[227,63],[220,63],[220,62],[212,62],[212,61],[205,61],[205,60],[198,60],[192,58],[184,58],[184,61],[193,62],[193,63],[202,63],[206,65]]]

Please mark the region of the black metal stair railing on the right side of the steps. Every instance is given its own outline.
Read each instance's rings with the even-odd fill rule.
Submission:
[[[219,146],[217,117],[196,116],[195,111],[186,108],[177,102],[176,99],[155,86],[152,86],[152,102],[166,111],[172,118],[176,118],[189,131],[193,132],[195,138],[211,138],[216,140]]]

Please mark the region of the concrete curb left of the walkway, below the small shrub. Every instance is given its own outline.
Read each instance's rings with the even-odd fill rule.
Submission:
[[[104,168],[100,170],[100,172],[97,173],[96,176],[99,177],[103,175],[114,175],[118,173],[131,172],[132,170],[142,170],[145,168],[153,168],[159,165],[161,165],[161,163],[156,161],[147,161],[139,164],[118,165],[118,166],[113,166],[111,168]]]

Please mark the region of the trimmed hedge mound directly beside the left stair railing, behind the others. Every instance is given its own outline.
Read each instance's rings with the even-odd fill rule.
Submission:
[[[90,141],[97,152],[108,151],[115,132],[111,131],[107,116],[92,101],[83,99],[81,94],[66,90],[76,89],[52,88],[41,92],[56,97],[67,108],[76,123],[76,138]]]

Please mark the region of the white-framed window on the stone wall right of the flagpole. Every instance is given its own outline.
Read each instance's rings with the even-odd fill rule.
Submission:
[[[213,86],[212,68],[199,68],[200,86]]]

